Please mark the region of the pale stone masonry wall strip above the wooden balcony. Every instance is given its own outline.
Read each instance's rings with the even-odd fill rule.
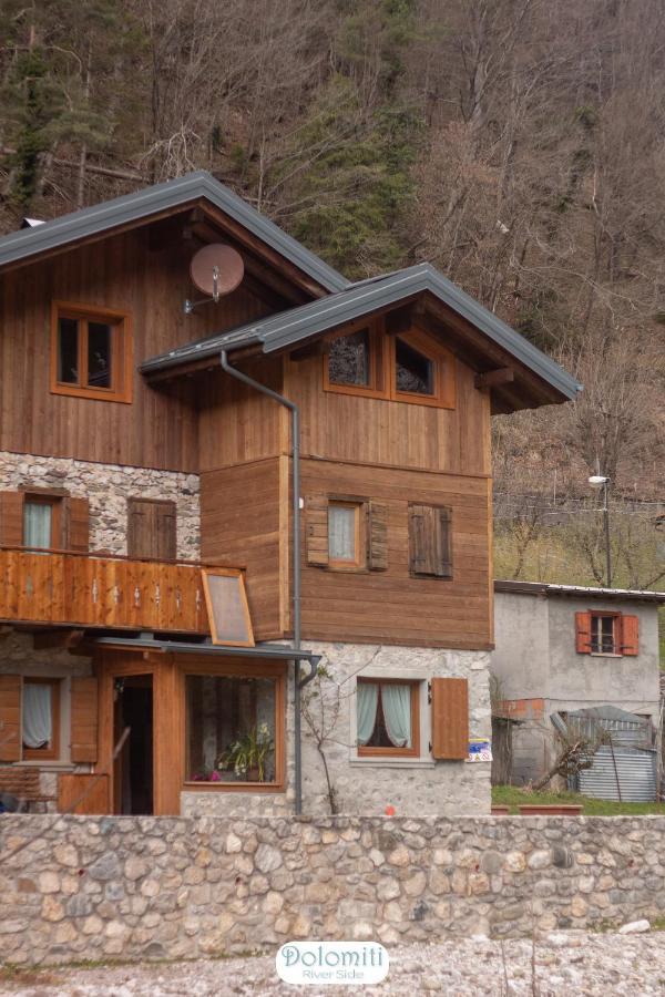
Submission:
[[[127,553],[127,498],[166,498],[177,506],[177,556],[198,561],[200,483],[196,474],[95,464],[64,458],[0,453],[0,491],[33,485],[66,489],[90,502],[90,549]]]

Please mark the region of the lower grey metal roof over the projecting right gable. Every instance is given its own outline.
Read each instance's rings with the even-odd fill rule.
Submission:
[[[434,295],[565,398],[574,398],[581,390],[581,384],[559,363],[443,277],[430,264],[418,264],[382,277],[361,280],[349,285],[345,290],[307,305],[250,322],[231,332],[187,343],[144,361],[141,370],[144,373],[164,370],[183,361],[214,357],[222,349],[233,351],[254,343],[262,343],[263,351],[270,353],[422,291]]]

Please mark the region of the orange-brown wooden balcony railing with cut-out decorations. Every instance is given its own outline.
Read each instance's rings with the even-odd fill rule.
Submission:
[[[208,634],[201,568],[0,548],[0,620]]]

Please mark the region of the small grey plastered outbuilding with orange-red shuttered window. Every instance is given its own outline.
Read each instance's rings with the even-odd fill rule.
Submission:
[[[499,580],[494,594],[495,782],[525,784],[552,767],[553,715],[615,708],[655,746],[665,593]]]

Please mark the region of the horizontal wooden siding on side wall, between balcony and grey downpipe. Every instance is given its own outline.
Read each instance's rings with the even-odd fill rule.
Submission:
[[[247,598],[256,640],[284,633],[280,531],[286,530],[287,501],[278,458],[201,475],[202,557],[224,557],[247,568]]]

